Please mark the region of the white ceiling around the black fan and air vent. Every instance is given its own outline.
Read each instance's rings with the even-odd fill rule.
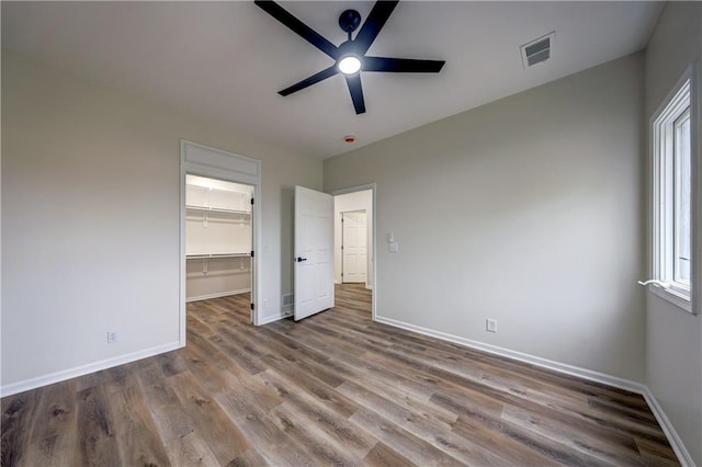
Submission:
[[[337,45],[341,11],[363,21],[373,7],[281,4]],[[362,115],[341,76],[276,93],[332,61],[252,2],[3,1],[2,47],[324,159],[641,50],[661,8],[400,2],[369,54],[446,65],[438,75],[362,73]],[[552,31],[552,58],[524,70],[519,46]]]

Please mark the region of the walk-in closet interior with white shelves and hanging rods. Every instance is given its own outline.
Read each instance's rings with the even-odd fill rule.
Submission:
[[[251,291],[252,187],[185,176],[186,301]]]

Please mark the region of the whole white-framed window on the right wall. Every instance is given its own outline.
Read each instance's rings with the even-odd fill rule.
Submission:
[[[652,121],[652,291],[692,311],[692,124],[691,70]]]

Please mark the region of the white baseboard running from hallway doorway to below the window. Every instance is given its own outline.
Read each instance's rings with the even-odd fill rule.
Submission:
[[[582,379],[587,379],[590,381],[601,383],[608,386],[612,386],[620,389],[630,390],[632,392],[639,394],[646,399],[650,411],[654,413],[654,417],[660,424],[672,451],[678,456],[678,460],[682,464],[683,467],[695,467],[694,460],[690,456],[690,453],[684,447],[682,440],[678,436],[672,423],[668,420],[668,417],[664,412],[663,408],[654,397],[654,395],[648,389],[648,386],[632,381],[630,379],[620,378],[619,376],[608,375],[604,373],[593,372],[591,369],[581,368],[574,365],[567,365],[565,363],[554,362],[552,360],[542,358],[540,356],[530,355],[522,352],[516,352],[509,349],[500,348],[497,345],[486,344],[484,342],[474,341],[471,339],[461,338],[458,335],[449,334],[445,332],[434,331],[432,329],[422,328],[421,326],[410,324],[408,322],[398,321],[392,318],[384,318],[381,316],[376,316],[375,319],[377,322],[393,326],[395,328],[405,329],[408,331],[414,331],[423,335],[429,335],[431,338],[441,339],[443,341],[453,342],[455,344],[464,345],[466,348],[476,349],[479,351],[488,352],[495,355],[508,357],[511,360],[516,360],[519,362],[529,363],[534,366],[540,366],[542,368],[552,369],[554,372],[563,373],[570,376],[577,376]]]

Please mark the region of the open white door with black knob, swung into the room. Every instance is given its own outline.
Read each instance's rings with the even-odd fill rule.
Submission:
[[[333,307],[333,197],[295,186],[295,321]]]

